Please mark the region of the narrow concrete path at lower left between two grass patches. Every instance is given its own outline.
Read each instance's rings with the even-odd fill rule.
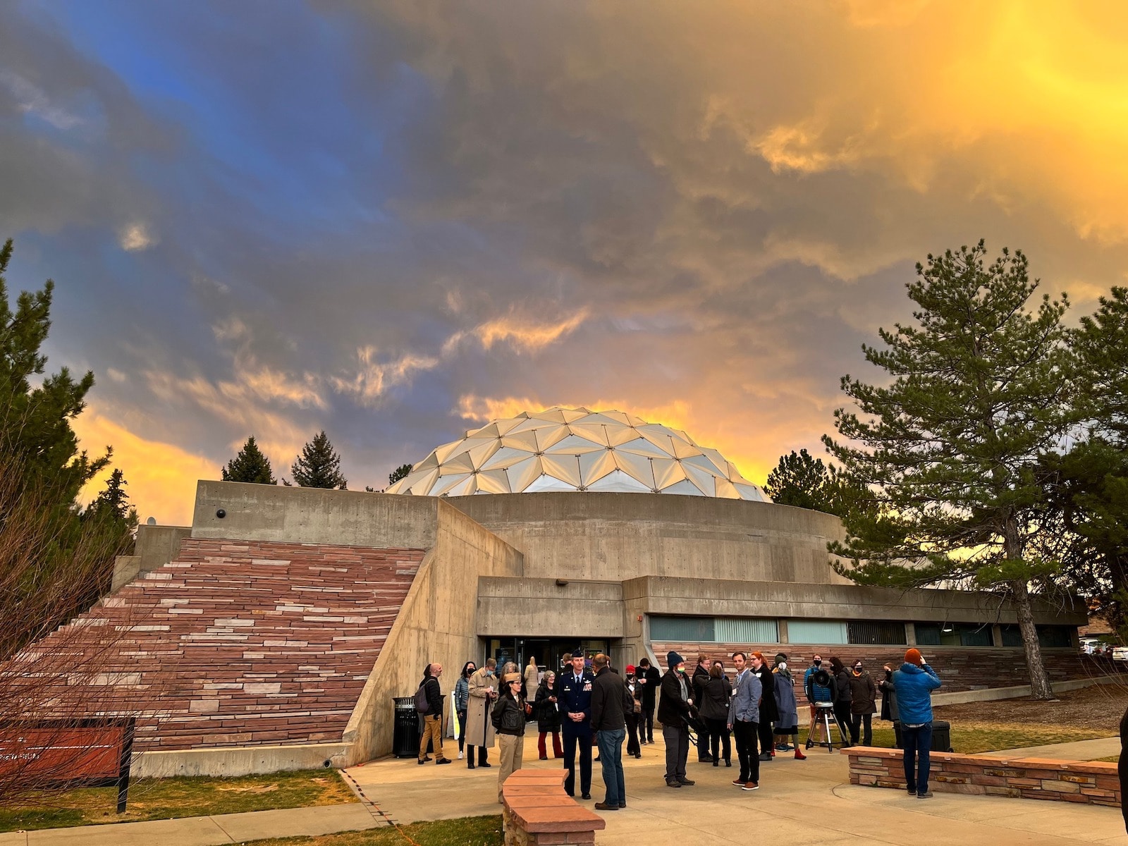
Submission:
[[[0,834],[0,846],[220,846],[266,837],[329,835],[386,825],[359,802],[178,820],[118,822]]]

